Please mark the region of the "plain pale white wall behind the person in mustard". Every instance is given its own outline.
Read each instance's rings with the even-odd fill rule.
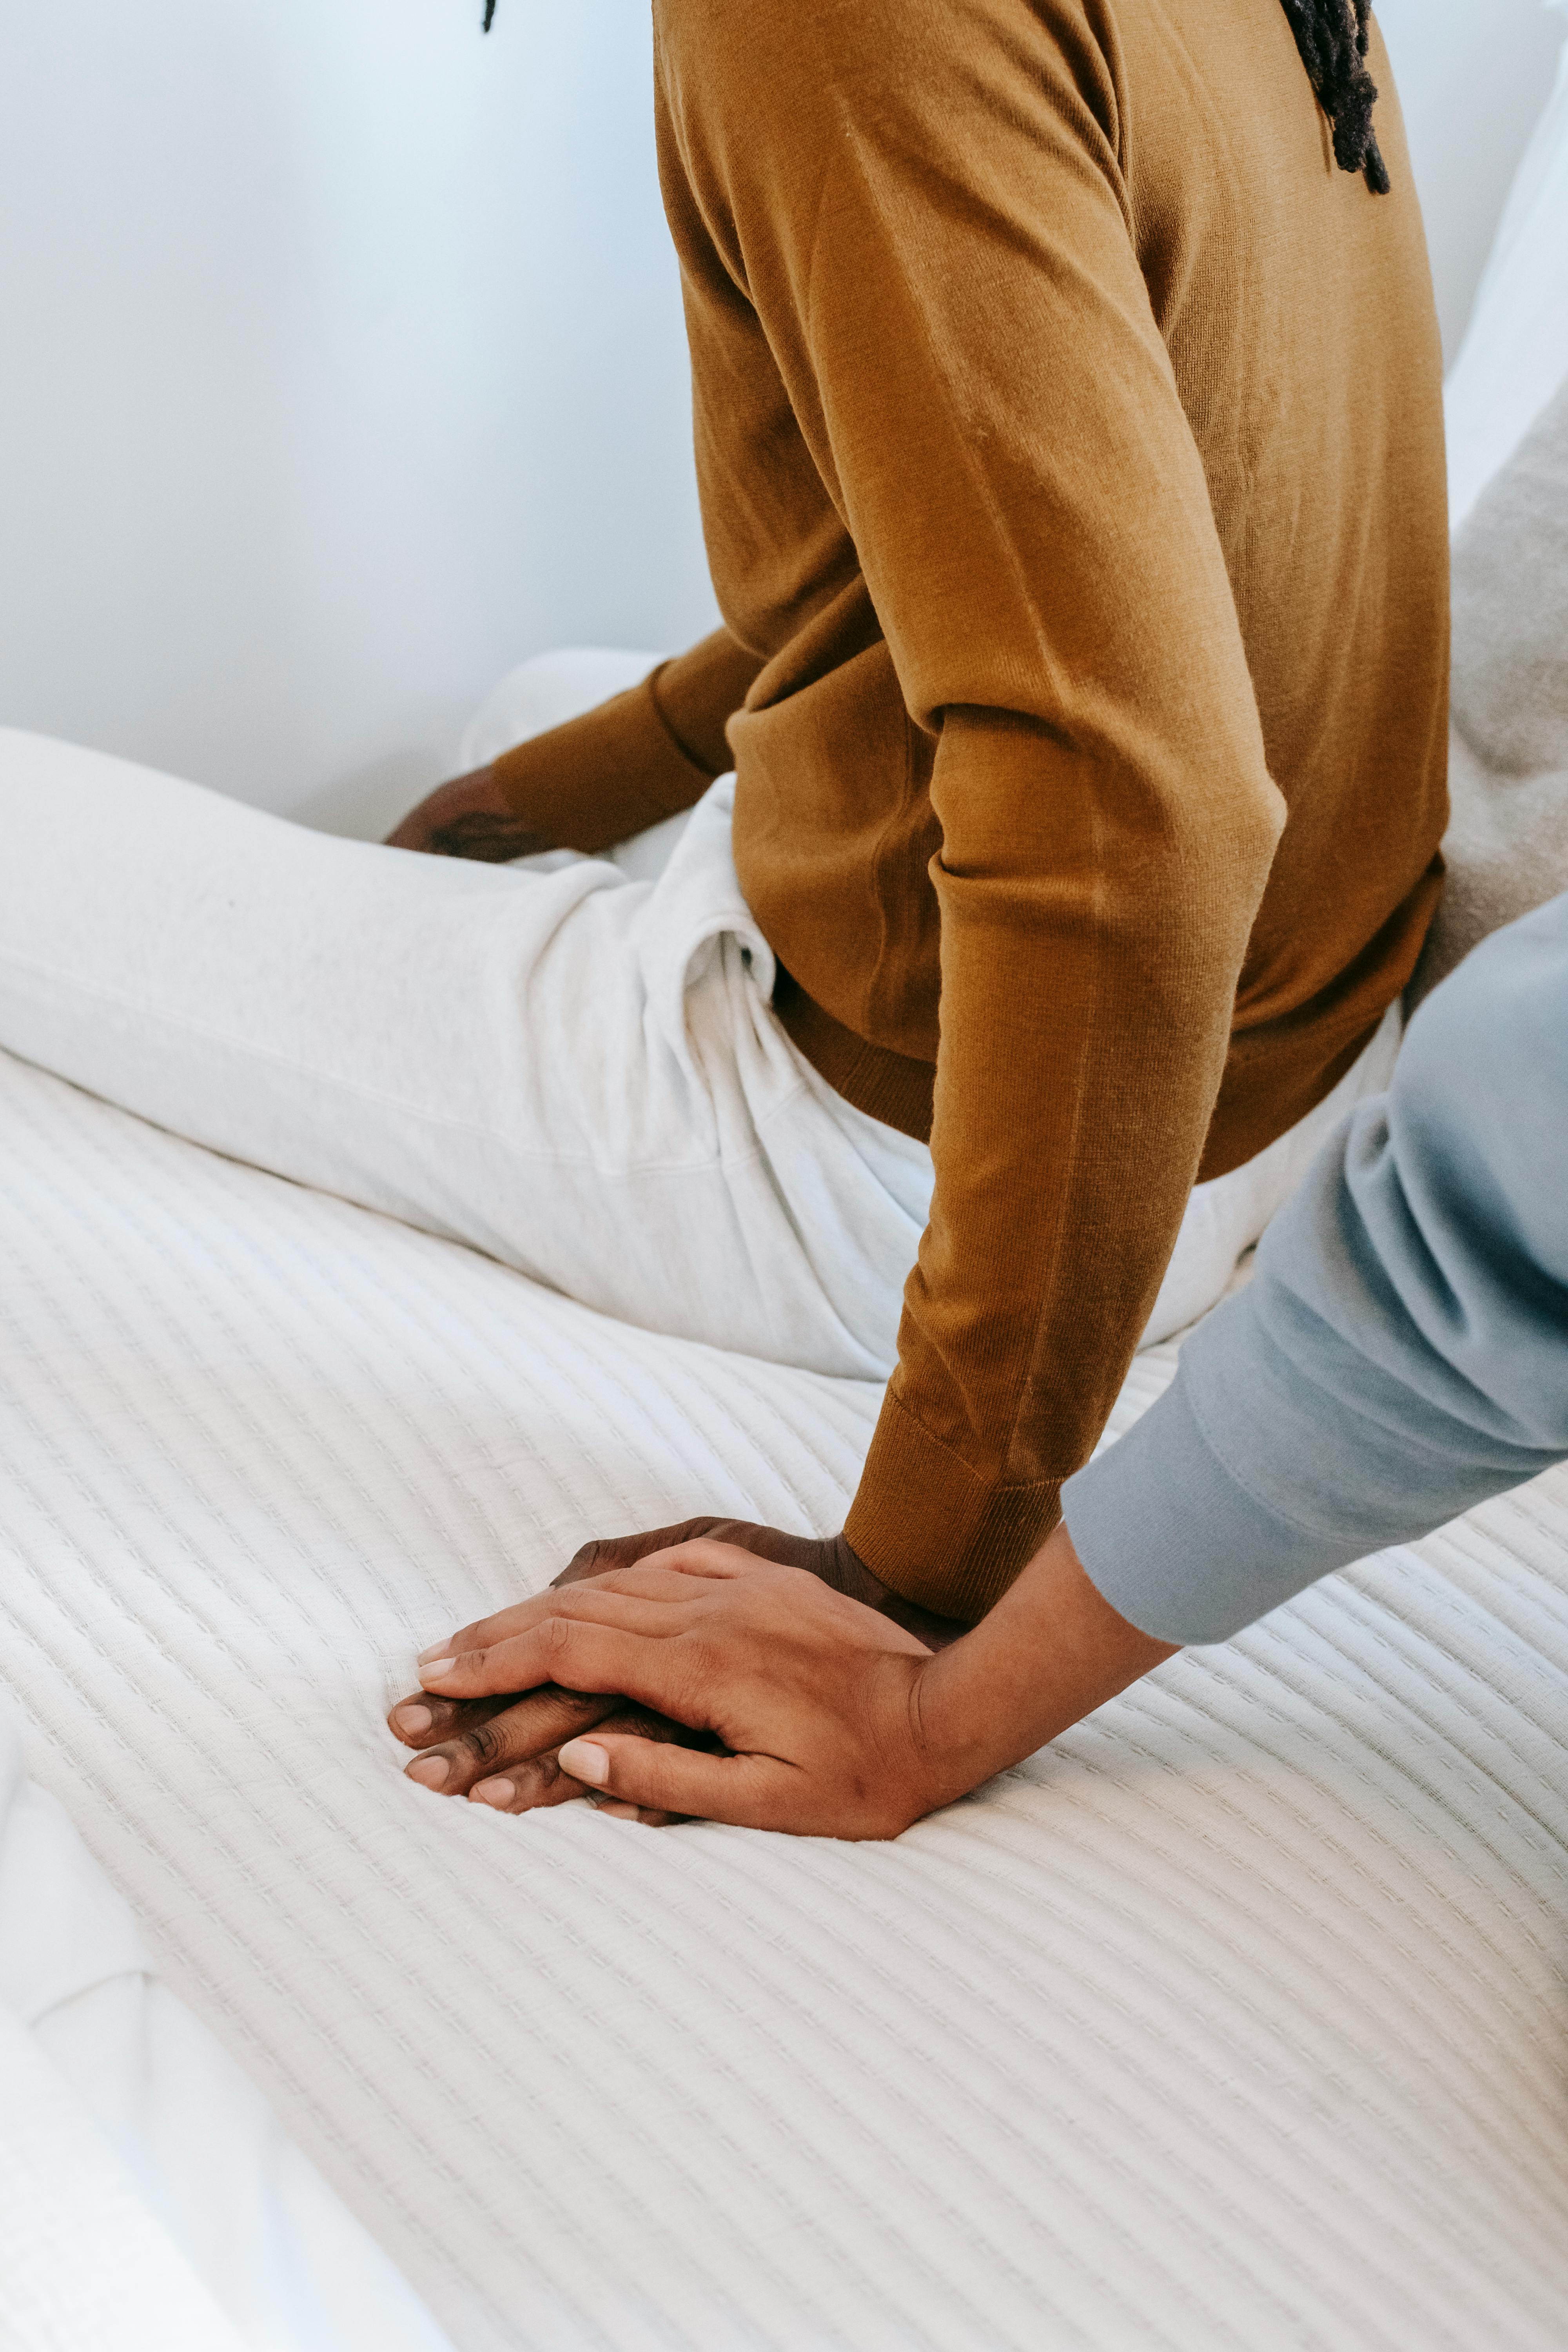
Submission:
[[[0,720],[393,807],[520,654],[710,626],[646,0],[480,7],[0,9]],[[1453,348],[1563,19],[1382,19]]]

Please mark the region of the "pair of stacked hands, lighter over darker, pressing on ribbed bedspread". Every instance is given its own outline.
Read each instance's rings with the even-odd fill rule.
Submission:
[[[898,1837],[1171,1656],[1063,1524],[964,1632],[842,1536],[693,1519],[588,1545],[550,1592],[425,1651],[390,1724],[423,1748],[411,1778],[512,1813],[592,1790],[644,1820]]]

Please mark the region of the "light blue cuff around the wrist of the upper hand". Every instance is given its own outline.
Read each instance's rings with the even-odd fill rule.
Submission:
[[[1063,1517],[1112,1609],[1182,1646],[1227,1642],[1354,1557],[1281,1519],[1232,1475],[1180,1374],[1126,1437],[1067,1479]]]

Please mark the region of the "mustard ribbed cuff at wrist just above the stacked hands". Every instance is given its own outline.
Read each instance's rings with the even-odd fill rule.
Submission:
[[[976,1623],[1056,1526],[1058,1494],[980,1477],[889,1390],[844,1534],[893,1592]]]

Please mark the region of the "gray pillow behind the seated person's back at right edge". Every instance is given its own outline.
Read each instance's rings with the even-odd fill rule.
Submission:
[[[1568,383],[1453,548],[1448,882],[1406,1002],[1568,889]]]

